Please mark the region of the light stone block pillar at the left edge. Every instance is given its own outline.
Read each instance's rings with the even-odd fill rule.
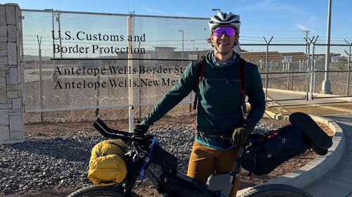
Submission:
[[[0,144],[25,140],[21,11],[0,4]]]

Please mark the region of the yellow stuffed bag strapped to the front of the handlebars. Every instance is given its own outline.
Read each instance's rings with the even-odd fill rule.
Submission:
[[[120,140],[110,139],[96,144],[89,160],[88,179],[99,186],[122,182],[127,174],[125,151],[125,143]]]

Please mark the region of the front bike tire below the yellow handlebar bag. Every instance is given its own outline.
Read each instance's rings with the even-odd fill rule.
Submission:
[[[119,197],[122,196],[123,188],[121,186],[87,186],[70,193],[68,197]],[[131,197],[137,197],[137,193],[132,192]]]

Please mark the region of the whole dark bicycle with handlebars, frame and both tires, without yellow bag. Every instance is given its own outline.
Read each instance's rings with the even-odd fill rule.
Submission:
[[[127,175],[119,184],[113,186],[88,186],[70,193],[68,197],[138,196],[134,189],[138,186],[137,180],[143,180],[144,177],[148,177],[158,193],[163,196],[229,196],[232,184],[238,178],[241,156],[249,144],[260,140],[256,134],[251,134],[247,143],[241,146],[232,171],[211,174],[208,182],[204,184],[179,172],[177,170],[177,158],[159,146],[155,136],[111,129],[99,118],[92,125],[107,138],[125,141],[129,149],[125,153]],[[313,197],[302,189],[284,184],[256,186],[241,196]]]

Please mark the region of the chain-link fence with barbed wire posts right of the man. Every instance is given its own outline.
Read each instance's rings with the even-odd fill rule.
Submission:
[[[328,58],[327,44],[241,44],[241,50],[242,58],[258,65],[263,87],[276,101],[352,95],[351,44],[330,44]],[[282,98],[282,92],[292,96]]]

